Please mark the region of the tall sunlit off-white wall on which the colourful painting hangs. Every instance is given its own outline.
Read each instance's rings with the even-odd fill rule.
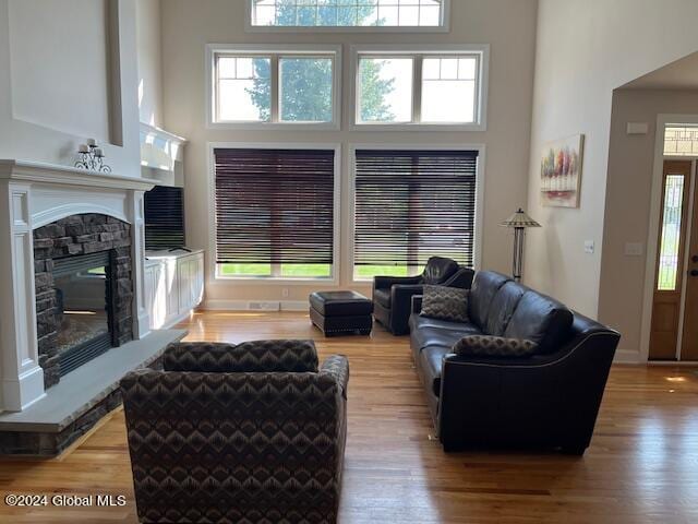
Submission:
[[[695,0],[539,2],[528,211],[543,228],[528,236],[525,276],[583,313],[599,312],[613,90],[697,50],[697,20]],[[541,207],[542,146],[576,133],[586,134],[581,205]]]

